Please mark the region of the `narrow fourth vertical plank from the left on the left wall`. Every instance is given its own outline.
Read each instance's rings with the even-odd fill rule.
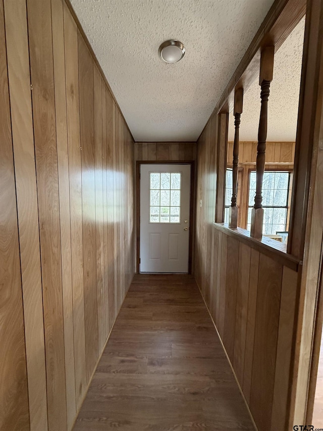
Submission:
[[[74,333],[73,333],[73,293],[71,256],[71,215],[69,158],[67,142],[66,86],[64,59],[63,0],[51,0],[53,65],[55,84],[55,111],[57,158],[59,173],[62,288],[64,316],[65,379],[67,427],[72,426],[76,414]]]

